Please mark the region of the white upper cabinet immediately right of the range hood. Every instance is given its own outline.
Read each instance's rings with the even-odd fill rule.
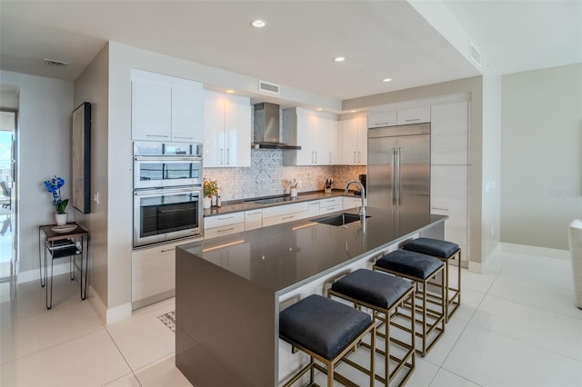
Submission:
[[[302,108],[283,111],[283,141],[301,146],[300,150],[286,150],[284,165],[340,164],[341,134],[337,121]]]

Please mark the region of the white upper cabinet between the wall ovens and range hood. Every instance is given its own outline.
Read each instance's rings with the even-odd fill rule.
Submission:
[[[206,91],[204,103],[204,166],[250,166],[250,99]]]

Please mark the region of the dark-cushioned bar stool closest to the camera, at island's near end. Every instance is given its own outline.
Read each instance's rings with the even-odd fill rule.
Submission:
[[[372,333],[370,350],[370,386],[374,385],[375,322],[369,314],[357,311],[321,295],[310,295],[279,313],[279,337],[297,350],[310,356],[310,362],[284,385],[296,382],[307,371],[314,383],[314,369],[327,374],[327,386],[334,378],[344,384],[351,383],[344,376],[334,374],[336,364],[356,350],[357,343]],[[322,367],[315,360],[322,362]]]

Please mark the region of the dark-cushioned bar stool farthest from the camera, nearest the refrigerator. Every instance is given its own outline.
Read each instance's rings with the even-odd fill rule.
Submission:
[[[402,248],[410,252],[434,256],[445,263],[445,285],[447,286],[445,323],[448,323],[448,319],[453,313],[457,312],[461,304],[461,249],[459,249],[458,244],[438,239],[417,238],[412,242],[406,243]],[[450,268],[448,263],[454,259],[458,260],[457,288],[452,287],[449,282]],[[451,295],[451,292],[453,295]],[[452,309],[451,305],[453,305]]]

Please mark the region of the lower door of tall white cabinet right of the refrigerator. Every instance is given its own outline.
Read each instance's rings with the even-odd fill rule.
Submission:
[[[467,222],[467,165],[432,165],[430,174],[430,213],[447,215],[445,240],[457,243],[462,260],[469,253]]]

